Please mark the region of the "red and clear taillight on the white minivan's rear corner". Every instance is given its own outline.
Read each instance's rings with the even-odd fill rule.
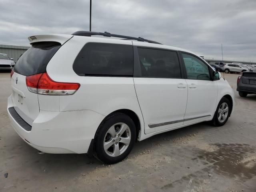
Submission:
[[[52,80],[47,73],[26,77],[28,90],[43,95],[72,95],[80,87],[79,83],[63,83]]]

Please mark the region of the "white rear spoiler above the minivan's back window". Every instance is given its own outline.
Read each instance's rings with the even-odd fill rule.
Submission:
[[[28,37],[28,40],[30,41],[30,44],[36,43],[36,42],[44,42],[44,41],[54,41],[59,42],[60,44],[64,44],[70,38],[72,38],[73,35],[63,35],[63,34],[48,34],[48,35],[34,35]]]

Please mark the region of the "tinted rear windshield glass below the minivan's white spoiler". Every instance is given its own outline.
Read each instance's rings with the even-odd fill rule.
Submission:
[[[46,66],[60,48],[58,42],[34,43],[17,61],[14,71],[24,76],[46,72]]]

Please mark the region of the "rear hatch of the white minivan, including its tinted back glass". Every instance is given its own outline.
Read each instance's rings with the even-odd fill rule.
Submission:
[[[67,35],[66,41],[60,42],[53,41],[54,38],[49,38],[49,35],[33,37],[29,38],[32,46],[17,61],[11,78],[14,109],[30,126],[39,114],[39,103],[38,94],[28,90],[26,77],[46,72],[46,66],[52,56],[72,36]]]

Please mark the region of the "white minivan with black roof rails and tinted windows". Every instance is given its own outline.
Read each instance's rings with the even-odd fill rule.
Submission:
[[[136,140],[203,121],[222,126],[234,108],[228,82],[188,50],[108,32],[28,39],[7,108],[16,132],[42,152],[112,164]]]

